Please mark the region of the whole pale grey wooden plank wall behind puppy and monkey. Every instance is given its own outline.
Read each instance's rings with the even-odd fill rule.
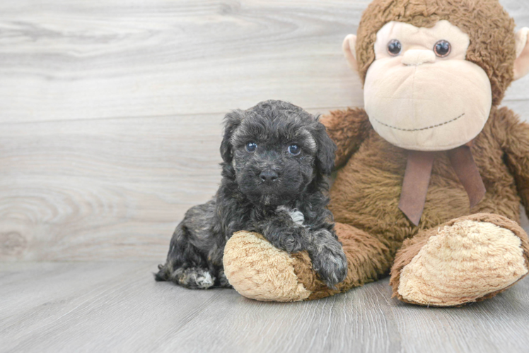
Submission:
[[[163,260],[216,191],[223,114],[362,104],[341,43],[368,2],[2,1],[0,261]]]

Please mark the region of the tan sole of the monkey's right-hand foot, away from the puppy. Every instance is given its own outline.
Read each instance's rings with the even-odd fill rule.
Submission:
[[[519,237],[493,223],[463,220],[439,229],[402,269],[398,294],[412,303],[457,306],[526,273]]]

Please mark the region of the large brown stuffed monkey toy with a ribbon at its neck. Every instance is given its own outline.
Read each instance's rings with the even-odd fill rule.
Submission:
[[[343,44],[365,109],[321,119],[338,147],[329,208],[347,278],[326,287],[307,253],[238,232],[223,258],[231,285],[298,301],[390,273],[401,301],[460,306],[527,275],[529,125],[499,107],[529,71],[529,29],[514,27],[497,0],[372,1]]]

